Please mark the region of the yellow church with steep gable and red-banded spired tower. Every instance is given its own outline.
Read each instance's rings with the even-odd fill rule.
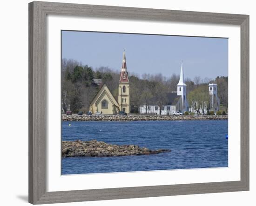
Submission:
[[[100,112],[104,115],[114,115],[118,114],[119,111],[129,114],[130,109],[130,83],[124,51],[118,88],[118,101],[116,101],[108,86],[104,84],[90,103],[90,111],[93,114]]]

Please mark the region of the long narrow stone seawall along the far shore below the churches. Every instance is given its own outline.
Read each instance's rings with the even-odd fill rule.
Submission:
[[[173,115],[62,115],[62,121],[175,121],[175,120],[225,120],[227,115],[173,116]]]

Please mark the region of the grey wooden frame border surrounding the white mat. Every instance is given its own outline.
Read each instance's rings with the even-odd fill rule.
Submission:
[[[238,25],[241,31],[241,180],[196,184],[46,191],[47,49],[46,16],[73,15],[158,22]],[[249,15],[96,6],[34,1],[29,3],[29,202],[32,204],[156,197],[249,190]]]

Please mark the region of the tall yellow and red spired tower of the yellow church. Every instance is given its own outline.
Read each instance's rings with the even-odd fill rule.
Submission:
[[[118,88],[119,111],[130,113],[130,83],[126,67],[125,51],[123,52],[122,68],[120,72],[119,88]]]

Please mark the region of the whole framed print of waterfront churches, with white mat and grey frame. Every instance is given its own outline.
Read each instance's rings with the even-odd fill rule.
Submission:
[[[248,15],[29,3],[30,203],[244,190]]]

